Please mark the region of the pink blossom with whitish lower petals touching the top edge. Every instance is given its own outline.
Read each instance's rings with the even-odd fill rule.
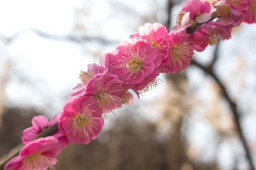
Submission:
[[[195,23],[210,20],[211,5],[207,0],[189,0],[182,6],[181,12],[190,12],[190,19]]]

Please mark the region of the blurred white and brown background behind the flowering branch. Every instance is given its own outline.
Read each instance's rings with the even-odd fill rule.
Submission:
[[[60,113],[81,70],[144,23],[171,30],[180,0],[0,0],[0,162],[31,118]],[[212,3],[212,1],[210,1]],[[196,52],[186,70],[109,114],[55,169],[235,170],[256,166],[256,26]]]

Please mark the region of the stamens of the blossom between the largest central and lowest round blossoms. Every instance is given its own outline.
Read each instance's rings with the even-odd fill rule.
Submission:
[[[118,108],[118,105],[122,105],[119,97],[112,96],[108,94],[107,91],[99,91],[94,97],[104,113],[107,113],[107,111],[112,111],[112,113],[114,113],[114,108]]]

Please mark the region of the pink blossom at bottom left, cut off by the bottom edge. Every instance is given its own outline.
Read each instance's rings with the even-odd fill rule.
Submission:
[[[10,170],[38,169],[46,170],[48,167],[54,169],[56,157],[60,154],[61,148],[58,140],[53,137],[43,137],[38,140],[29,141],[19,152],[17,157],[11,159],[4,166]]]

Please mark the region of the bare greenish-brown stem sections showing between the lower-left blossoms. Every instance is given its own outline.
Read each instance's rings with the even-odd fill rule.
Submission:
[[[58,130],[58,123],[55,123],[54,125],[52,125],[50,128],[43,130],[37,137],[35,137],[35,139],[33,140],[37,140],[40,137],[47,137],[52,135],[56,130]],[[9,162],[12,158],[18,156],[18,153],[21,151],[18,150],[18,152],[16,152],[15,154],[13,154],[11,157],[9,157],[8,159],[6,159],[4,162],[2,162],[0,164],[0,170],[4,170],[4,165]]]

